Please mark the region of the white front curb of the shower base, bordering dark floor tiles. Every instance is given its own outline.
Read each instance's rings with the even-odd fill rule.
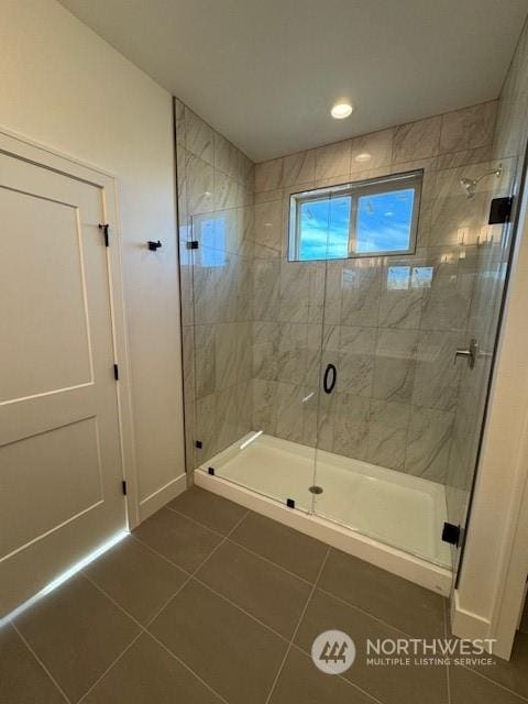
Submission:
[[[292,510],[277,502],[261,496],[219,476],[195,472],[195,484],[257,514],[273,518],[299,532],[321,540],[332,548],[348,552],[382,570],[425,586],[432,592],[449,596],[452,584],[451,571],[420,560],[414,556],[391,548],[359,532],[349,530],[332,521],[311,516],[300,510]]]

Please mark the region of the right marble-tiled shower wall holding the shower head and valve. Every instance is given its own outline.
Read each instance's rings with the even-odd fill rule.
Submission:
[[[528,131],[528,29],[525,26],[509,67],[497,107],[492,157],[501,162],[504,175],[492,179],[491,198],[517,196],[522,175]],[[514,199],[515,202],[515,199]],[[495,237],[479,250],[477,276],[472,297],[466,341],[475,338],[481,351],[471,372],[464,367],[453,424],[452,451],[448,470],[448,517],[459,524],[468,505],[479,448],[487,383],[504,293],[507,261],[512,244],[510,224],[495,226]]]

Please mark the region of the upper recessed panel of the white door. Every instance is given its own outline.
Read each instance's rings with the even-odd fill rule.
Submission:
[[[2,256],[16,276],[3,280],[13,305],[2,312],[0,402],[92,381],[78,211],[28,194],[0,190],[7,232]],[[45,223],[48,237],[43,237]],[[20,351],[38,350],[31,364]]]

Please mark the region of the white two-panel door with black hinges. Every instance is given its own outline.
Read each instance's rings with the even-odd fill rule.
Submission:
[[[0,153],[0,617],[127,528],[103,206]]]

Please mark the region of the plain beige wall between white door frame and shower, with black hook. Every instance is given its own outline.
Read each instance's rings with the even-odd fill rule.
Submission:
[[[184,471],[172,99],[54,0],[0,11],[0,125],[118,179],[144,501]]]

